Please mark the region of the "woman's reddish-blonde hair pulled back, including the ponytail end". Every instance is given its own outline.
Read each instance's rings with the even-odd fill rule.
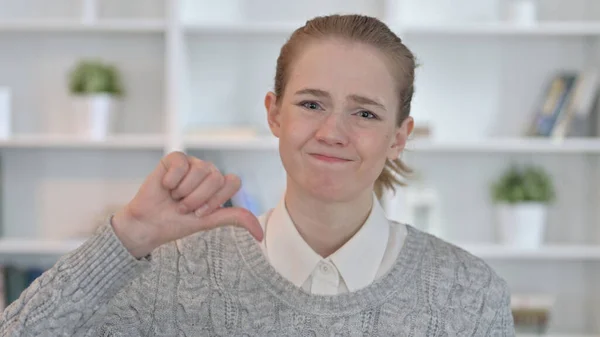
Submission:
[[[414,93],[415,57],[385,23],[369,16],[319,16],[296,29],[281,48],[277,58],[275,95],[282,97],[294,56],[302,49],[303,43],[324,38],[341,38],[364,43],[383,52],[391,63],[392,76],[397,83],[400,106],[398,107],[396,125],[401,126],[410,115]],[[412,169],[399,158],[387,160],[385,167],[375,181],[374,191],[377,197],[381,199],[384,189],[395,191],[394,185],[404,186],[405,183],[398,178],[398,175],[406,178],[410,173],[412,173]]]

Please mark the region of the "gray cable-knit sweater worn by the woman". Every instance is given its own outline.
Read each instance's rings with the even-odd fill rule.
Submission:
[[[505,281],[407,227],[386,275],[321,296],[280,276],[243,229],[198,233],[136,260],[106,224],[4,311],[0,336],[514,336]]]

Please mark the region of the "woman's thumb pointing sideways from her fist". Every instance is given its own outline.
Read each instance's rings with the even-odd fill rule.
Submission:
[[[220,226],[237,226],[248,230],[258,241],[263,239],[263,230],[260,222],[249,210],[239,207],[223,207],[202,217],[200,223],[205,228]]]

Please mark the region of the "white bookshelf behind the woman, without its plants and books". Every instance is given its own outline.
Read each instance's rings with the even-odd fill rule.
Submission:
[[[0,86],[13,88],[15,115],[14,136],[0,139],[0,260],[70,251],[79,243],[48,229],[126,202],[171,150],[243,172],[263,207],[274,205],[284,171],[263,98],[279,48],[312,16],[359,12],[387,20],[421,64],[412,113],[434,137],[410,140],[403,158],[438,189],[448,239],[468,242],[515,291],[556,293],[558,334],[548,336],[600,333],[600,140],[521,136],[553,71],[600,65],[600,3],[543,0],[540,23],[524,26],[495,14],[502,1],[461,0],[420,22],[452,1],[249,0],[236,19],[208,22],[188,7],[208,1],[98,0],[86,22],[77,0],[0,0]],[[120,129],[104,141],[61,131],[65,76],[83,57],[115,63],[126,81]],[[494,243],[489,182],[510,162],[538,163],[557,184],[537,250]]]

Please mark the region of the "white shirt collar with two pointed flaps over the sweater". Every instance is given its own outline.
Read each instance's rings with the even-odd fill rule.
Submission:
[[[273,267],[301,287],[323,258],[304,241],[281,198],[265,224],[265,250]],[[375,280],[386,250],[390,226],[375,194],[373,207],[359,231],[329,259],[349,291]]]

